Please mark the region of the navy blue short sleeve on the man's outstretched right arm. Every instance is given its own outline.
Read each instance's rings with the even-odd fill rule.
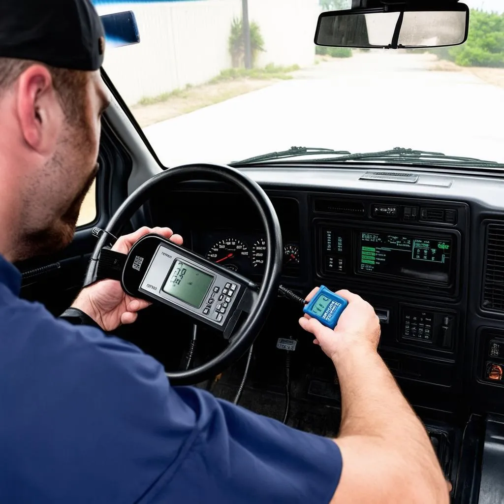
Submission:
[[[333,440],[198,389],[175,387],[174,393],[195,411],[198,434],[173,475],[160,480],[159,495],[150,504],[173,501],[175,496],[183,502],[230,504],[331,500],[342,470]]]

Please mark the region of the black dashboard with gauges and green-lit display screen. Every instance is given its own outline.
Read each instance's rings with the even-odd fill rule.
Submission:
[[[493,175],[418,169],[408,183],[334,166],[243,171],[277,212],[284,285],[368,300],[381,320],[379,351],[416,404],[504,411],[504,207]],[[191,182],[149,212],[197,254],[260,280],[268,243],[259,216],[228,187]]]

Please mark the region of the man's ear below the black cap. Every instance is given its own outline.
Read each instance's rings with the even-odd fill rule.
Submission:
[[[17,113],[25,142],[41,155],[55,149],[64,114],[53,86],[52,76],[43,65],[26,69],[17,83]]]

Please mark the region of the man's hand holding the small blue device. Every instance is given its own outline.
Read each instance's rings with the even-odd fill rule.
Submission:
[[[309,301],[318,290],[318,287],[313,289],[306,300]],[[299,325],[315,336],[313,343],[320,345],[333,361],[339,356],[344,358],[347,348],[364,346],[376,351],[380,340],[380,320],[373,307],[348,290],[340,290],[336,294],[347,299],[348,306],[343,310],[334,331],[307,314],[299,320]]]

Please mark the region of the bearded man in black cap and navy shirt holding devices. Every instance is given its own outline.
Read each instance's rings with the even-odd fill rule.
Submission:
[[[88,0],[0,4],[0,501],[448,502],[428,436],[376,353],[379,322],[355,294],[339,292],[349,305],[335,331],[299,321],[338,371],[335,440],[170,387],[153,358],[92,327],[112,331],[147,305],[118,282],[79,294],[81,325],[19,299],[10,263],[71,241],[95,176],[103,52]]]

